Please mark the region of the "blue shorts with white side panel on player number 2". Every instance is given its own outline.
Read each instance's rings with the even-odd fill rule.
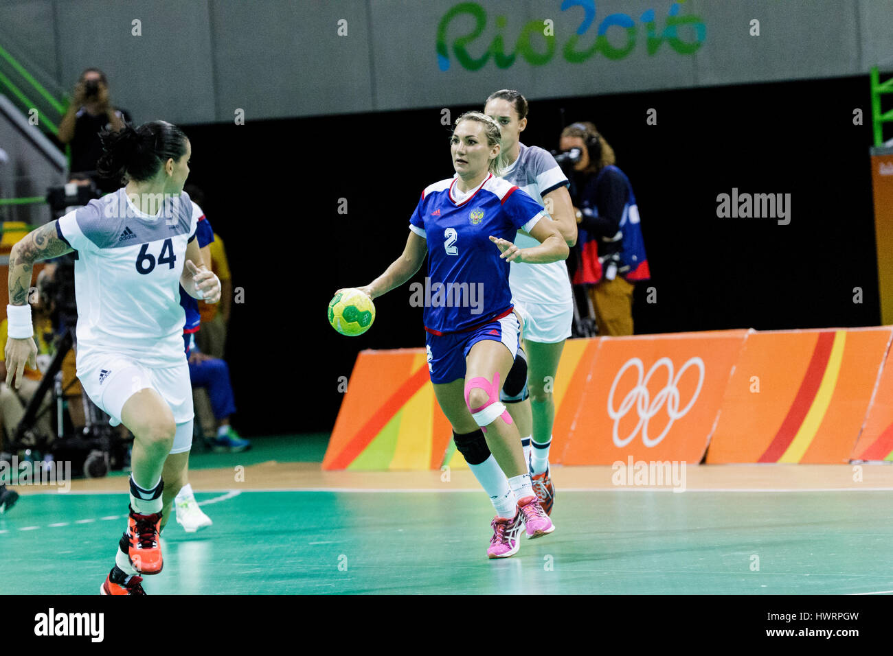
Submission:
[[[457,378],[465,378],[465,358],[472,346],[485,339],[502,342],[514,357],[518,353],[518,336],[521,326],[514,312],[502,319],[469,330],[467,333],[428,333],[425,350],[428,352],[428,370],[431,382],[440,385],[451,383]]]

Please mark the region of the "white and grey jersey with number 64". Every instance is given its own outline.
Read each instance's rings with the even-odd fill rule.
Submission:
[[[179,277],[196,218],[186,193],[152,217],[122,187],[58,220],[59,237],[78,252],[79,361],[96,352],[122,353],[146,367],[186,359]]]

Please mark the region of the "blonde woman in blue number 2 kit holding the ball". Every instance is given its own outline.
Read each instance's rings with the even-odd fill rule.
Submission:
[[[497,177],[495,120],[463,114],[450,153],[456,177],[424,190],[403,254],[360,289],[374,299],[403,285],[428,254],[424,322],[431,383],[456,448],[497,511],[488,556],[505,558],[518,551],[522,527],[528,538],[555,529],[530,484],[518,428],[499,401],[520,330],[509,262],[556,262],[567,257],[568,247],[552,222],[541,220],[542,208],[530,196]],[[514,245],[520,228],[538,245]]]

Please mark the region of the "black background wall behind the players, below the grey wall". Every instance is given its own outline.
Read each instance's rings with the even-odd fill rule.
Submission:
[[[360,350],[424,345],[408,285],[356,338],[330,328],[326,305],[401,253],[422,188],[452,176],[441,109],[183,126],[189,181],[244,289],[228,359],[246,435],[330,430]],[[454,120],[468,109],[480,105],[449,107]],[[868,326],[880,322],[870,116],[859,76],[538,101],[522,141],[555,149],[564,124],[593,120],[613,146],[653,276],[636,292],[637,333]],[[718,218],[732,187],[790,194],[790,224]]]

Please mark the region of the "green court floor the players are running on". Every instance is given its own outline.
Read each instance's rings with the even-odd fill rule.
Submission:
[[[489,561],[483,493],[197,494],[149,594],[850,594],[893,591],[887,492],[558,490],[555,533]],[[121,494],[23,496],[0,516],[0,593],[97,594]],[[122,507],[123,506],[123,507]],[[113,518],[113,519],[107,519]]]

